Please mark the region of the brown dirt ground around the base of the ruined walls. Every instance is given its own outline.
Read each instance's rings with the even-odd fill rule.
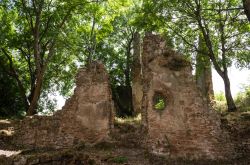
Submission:
[[[242,153],[235,160],[184,160],[169,159],[151,154],[143,144],[138,122],[118,122],[112,132],[112,140],[94,146],[79,144],[68,149],[30,149],[11,144],[13,134],[11,120],[0,120],[0,165],[33,164],[100,164],[100,165],[248,165],[250,164],[250,114],[230,113],[222,115],[223,127],[228,129]]]

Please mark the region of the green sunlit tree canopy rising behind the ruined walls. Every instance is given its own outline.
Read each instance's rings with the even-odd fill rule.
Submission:
[[[236,0],[1,0],[0,20],[1,115],[54,110],[52,96],[70,96],[77,68],[93,60],[114,88],[131,86],[133,41],[145,32],[190,60],[209,57],[229,87],[228,67],[250,68],[250,25]]]

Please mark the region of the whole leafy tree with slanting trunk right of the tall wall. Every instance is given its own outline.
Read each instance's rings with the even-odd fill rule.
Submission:
[[[154,11],[155,18],[159,17],[166,29],[175,34],[175,40],[182,41],[181,47],[209,57],[224,81],[229,111],[235,111],[236,106],[228,67],[233,60],[249,59],[249,26],[238,6],[239,2],[233,0],[162,1]],[[202,34],[206,52],[198,49],[199,34]]]

